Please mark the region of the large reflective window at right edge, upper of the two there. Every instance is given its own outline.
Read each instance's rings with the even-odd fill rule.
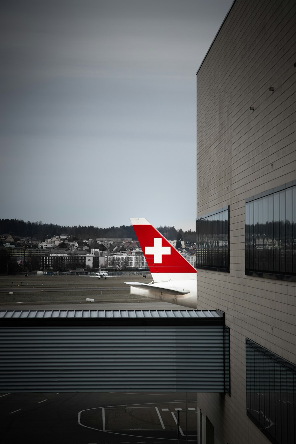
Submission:
[[[265,194],[245,204],[246,274],[295,281],[296,186]]]

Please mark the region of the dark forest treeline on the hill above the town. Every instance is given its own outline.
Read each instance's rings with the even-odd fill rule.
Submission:
[[[174,240],[179,236],[185,242],[195,242],[195,231],[176,230],[175,227],[160,226],[158,231],[162,233],[168,240]],[[110,228],[99,228],[91,226],[64,226],[52,223],[24,222],[19,219],[0,219],[0,234],[11,233],[13,236],[20,238],[30,237],[43,240],[52,236],[59,236],[66,233],[69,236],[78,239],[91,238],[132,238],[136,239],[134,228],[132,225],[121,225],[119,227],[111,226]]]

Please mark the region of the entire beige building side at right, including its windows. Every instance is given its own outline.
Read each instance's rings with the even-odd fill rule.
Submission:
[[[197,309],[230,328],[198,443],[296,442],[296,3],[235,0],[197,71]]]

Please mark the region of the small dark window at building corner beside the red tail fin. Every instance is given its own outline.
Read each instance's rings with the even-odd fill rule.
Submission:
[[[196,221],[197,268],[229,271],[229,207]]]

